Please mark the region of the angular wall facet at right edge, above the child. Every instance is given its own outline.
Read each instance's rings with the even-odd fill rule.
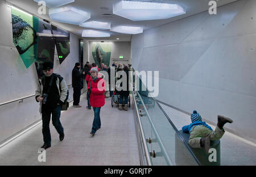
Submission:
[[[255,41],[256,35],[216,40],[181,81],[256,96]]]

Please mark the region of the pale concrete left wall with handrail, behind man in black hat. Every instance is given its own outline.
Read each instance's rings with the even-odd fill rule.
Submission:
[[[35,64],[26,69],[13,44],[13,28],[11,26],[11,9],[4,1],[0,1],[0,103],[34,95],[38,76]],[[60,65],[55,49],[54,73],[64,77],[67,84],[72,83],[72,69],[79,61],[79,37],[71,33],[71,52]],[[69,94],[73,95],[72,86]],[[28,125],[40,120],[39,103],[32,98],[23,103],[14,102],[0,106],[0,142],[9,138]]]

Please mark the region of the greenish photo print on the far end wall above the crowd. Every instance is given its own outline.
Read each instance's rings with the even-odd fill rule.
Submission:
[[[95,63],[100,67],[101,63],[109,66],[112,43],[92,43],[92,55]]]

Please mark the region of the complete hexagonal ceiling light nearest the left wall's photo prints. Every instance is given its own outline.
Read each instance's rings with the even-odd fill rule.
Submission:
[[[79,25],[90,19],[90,12],[82,11],[75,7],[60,7],[49,9],[49,16],[55,22]]]

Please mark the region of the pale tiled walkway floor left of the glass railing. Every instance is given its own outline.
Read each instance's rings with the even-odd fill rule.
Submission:
[[[38,149],[43,145],[42,124],[0,149],[0,165],[140,165],[133,110],[111,107],[111,98],[101,108],[101,129],[90,135],[93,109],[70,107],[61,113],[65,138],[50,125],[52,146],[46,150],[46,162],[38,162]]]

